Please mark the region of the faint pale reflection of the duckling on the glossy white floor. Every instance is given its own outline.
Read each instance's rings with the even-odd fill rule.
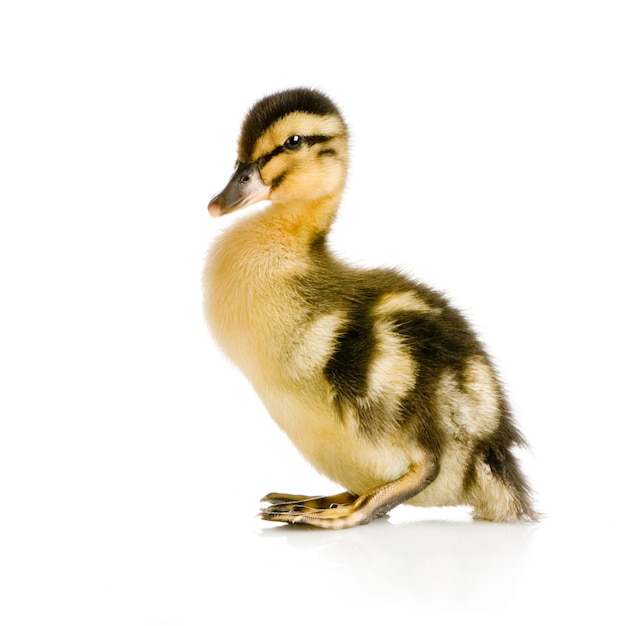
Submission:
[[[353,597],[396,607],[493,609],[520,585],[534,526],[471,521],[379,520],[345,533],[264,529],[293,550],[315,551]]]

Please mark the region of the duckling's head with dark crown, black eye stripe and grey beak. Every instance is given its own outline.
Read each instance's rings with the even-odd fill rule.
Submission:
[[[209,213],[219,217],[261,200],[338,199],[347,164],[346,125],[328,97],[306,88],[275,93],[250,109],[235,172]]]

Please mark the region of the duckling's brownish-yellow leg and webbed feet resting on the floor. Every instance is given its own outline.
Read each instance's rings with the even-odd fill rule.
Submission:
[[[360,496],[349,492],[327,498],[268,494],[264,500],[276,504],[264,509],[261,518],[271,522],[308,524],[320,528],[351,528],[382,517],[398,504],[416,496],[436,475],[435,463],[427,463],[412,465],[397,480],[375,487]]]

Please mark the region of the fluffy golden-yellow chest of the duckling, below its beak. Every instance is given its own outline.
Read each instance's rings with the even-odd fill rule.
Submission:
[[[306,258],[283,229],[243,220],[212,246],[204,270],[204,308],[215,340],[249,378],[272,376],[306,316],[293,288]],[[261,232],[263,230],[263,232]]]

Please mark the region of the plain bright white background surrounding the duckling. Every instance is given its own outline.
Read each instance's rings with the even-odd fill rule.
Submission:
[[[601,0],[3,3],[0,622],[623,620],[625,32]],[[467,312],[539,526],[255,517],[337,486],[204,327],[206,205],[297,85],[352,129],[333,246]]]

